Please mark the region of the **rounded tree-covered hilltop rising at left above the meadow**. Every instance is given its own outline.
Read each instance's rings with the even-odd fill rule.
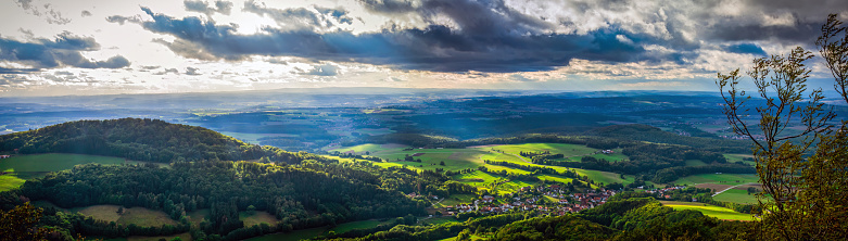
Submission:
[[[149,118],[78,120],[0,136],[0,151],[79,153],[135,161],[256,160],[296,163],[305,153],[241,142],[203,127]]]

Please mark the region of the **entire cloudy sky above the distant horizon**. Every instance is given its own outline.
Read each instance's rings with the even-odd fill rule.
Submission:
[[[0,0],[0,97],[316,87],[718,91],[845,0]],[[848,22],[848,21],[847,21]],[[813,60],[812,78],[830,73]]]

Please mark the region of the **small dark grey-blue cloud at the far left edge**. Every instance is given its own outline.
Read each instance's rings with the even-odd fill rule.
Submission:
[[[129,61],[121,55],[105,61],[92,61],[83,56],[80,51],[93,51],[100,45],[93,38],[83,38],[64,33],[55,39],[37,39],[35,42],[21,42],[0,38],[0,60],[16,62],[34,68],[3,69],[2,72],[33,72],[36,68],[74,66],[83,68],[121,68],[129,66]]]

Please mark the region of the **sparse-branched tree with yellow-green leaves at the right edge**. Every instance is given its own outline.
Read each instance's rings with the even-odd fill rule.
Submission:
[[[832,14],[817,40],[819,52],[835,78],[835,89],[846,96],[848,36]],[[841,36],[841,37],[840,37]],[[838,240],[848,237],[848,122],[831,122],[836,115],[824,105],[821,89],[808,90],[811,69],[805,62],[811,52],[797,47],[787,56],[754,60],[747,72],[756,86],[757,101],[738,84],[739,69],[718,75],[724,114],[733,130],[754,141],[757,173],[763,191],[758,193],[761,230],[769,239]],[[752,123],[747,116],[759,117]],[[801,127],[801,131],[786,131]]]

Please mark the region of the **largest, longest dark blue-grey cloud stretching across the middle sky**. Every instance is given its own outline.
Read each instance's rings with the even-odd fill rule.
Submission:
[[[159,40],[175,53],[187,58],[239,60],[246,55],[293,55],[315,61],[360,62],[390,65],[401,69],[436,72],[520,72],[546,71],[564,66],[573,58],[611,62],[654,60],[633,42],[620,42],[617,35],[642,41],[619,29],[603,29],[588,35],[533,34],[546,26],[531,16],[517,13],[503,2],[431,1],[430,11],[447,14],[459,25],[384,30],[353,35],[347,31],[315,33],[265,28],[255,35],[237,35],[232,25],[194,16],[175,18],[142,8],[153,21],[141,25],[154,33],[177,37],[173,42]],[[320,24],[314,12],[278,11],[245,3],[245,11],[275,18],[295,17]],[[179,48],[176,48],[179,47]]]

